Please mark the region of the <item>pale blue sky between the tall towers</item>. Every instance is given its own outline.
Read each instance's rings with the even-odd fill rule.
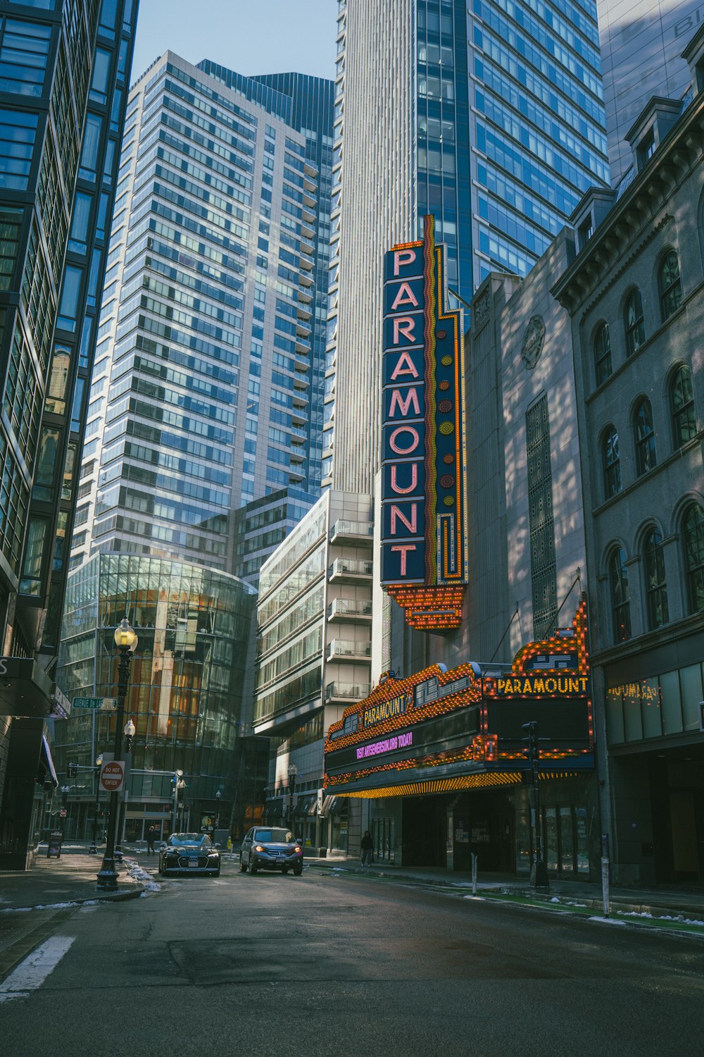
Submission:
[[[242,74],[332,77],[335,0],[140,0],[132,80],[170,48]]]

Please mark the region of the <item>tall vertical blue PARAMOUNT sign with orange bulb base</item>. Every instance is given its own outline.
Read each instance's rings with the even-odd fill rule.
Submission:
[[[381,583],[414,628],[459,627],[468,580],[462,312],[435,218],[384,263]]]

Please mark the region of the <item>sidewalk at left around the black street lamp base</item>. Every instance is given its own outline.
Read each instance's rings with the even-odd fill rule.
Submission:
[[[141,895],[145,885],[130,876],[127,860],[117,867],[117,891],[98,891],[96,874],[102,864],[103,849],[90,855],[88,847],[64,845],[60,858],[46,858],[46,846],[40,845],[31,870],[0,872],[0,912],[94,900],[133,900]]]

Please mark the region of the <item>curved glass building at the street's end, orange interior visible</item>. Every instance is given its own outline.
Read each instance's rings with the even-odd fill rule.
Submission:
[[[96,554],[70,575],[59,663],[70,699],[114,698],[115,627],[127,616],[139,636],[125,709],[136,727],[128,839],[140,839],[149,824],[169,831],[177,769],[186,783],[179,827],[201,829],[210,816],[230,829],[245,817],[247,797],[254,801],[239,748],[249,719],[243,687],[255,598],[235,576],[161,558]],[[114,735],[112,711],[74,707],[56,723],[59,769],[79,765],[70,782],[71,836],[91,835],[95,779],[89,767],[111,749]]]

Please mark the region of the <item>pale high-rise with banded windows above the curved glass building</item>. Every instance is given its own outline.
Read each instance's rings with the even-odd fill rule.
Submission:
[[[73,565],[231,569],[230,513],[306,485],[319,177],[286,87],[167,53],[132,89]]]

